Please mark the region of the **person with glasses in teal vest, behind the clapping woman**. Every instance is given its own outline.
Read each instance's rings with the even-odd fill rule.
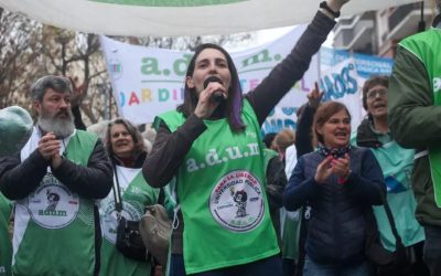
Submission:
[[[407,247],[406,253],[409,254],[409,263],[407,265],[400,263],[394,267],[394,275],[426,276],[429,272],[422,262],[424,233],[413,215],[417,202],[410,179],[415,150],[401,148],[390,135],[387,118],[388,87],[387,76],[373,76],[365,82],[363,106],[367,112],[367,118],[357,128],[355,140],[358,147],[370,148],[381,167],[387,185],[387,202],[395,217],[398,234]],[[394,252],[395,237],[385,209],[374,206],[373,210],[381,241],[388,251]],[[390,274],[390,270],[388,273]]]

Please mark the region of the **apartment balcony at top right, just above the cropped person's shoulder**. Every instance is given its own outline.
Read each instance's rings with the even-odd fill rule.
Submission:
[[[432,23],[432,9],[429,2],[423,8],[426,26]],[[418,23],[421,20],[420,3],[409,3],[395,8],[388,19],[390,32],[388,40],[401,40],[418,32]]]

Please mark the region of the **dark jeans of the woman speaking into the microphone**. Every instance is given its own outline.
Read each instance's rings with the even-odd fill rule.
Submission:
[[[183,255],[172,254],[170,276],[185,276]],[[252,263],[236,265],[204,273],[192,274],[194,276],[282,276],[280,256],[259,259]]]

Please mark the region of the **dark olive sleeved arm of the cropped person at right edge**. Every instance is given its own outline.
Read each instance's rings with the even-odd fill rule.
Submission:
[[[400,46],[388,91],[389,127],[405,148],[423,149],[441,139],[441,107],[422,62]]]

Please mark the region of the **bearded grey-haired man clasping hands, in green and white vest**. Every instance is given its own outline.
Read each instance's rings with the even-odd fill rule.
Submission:
[[[95,201],[112,187],[111,164],[96,135],[75,129],[69,79],[44,76],[31,95],[31,138],[0,159],[0,191],[15,205],[12,274],[98,275]]]

